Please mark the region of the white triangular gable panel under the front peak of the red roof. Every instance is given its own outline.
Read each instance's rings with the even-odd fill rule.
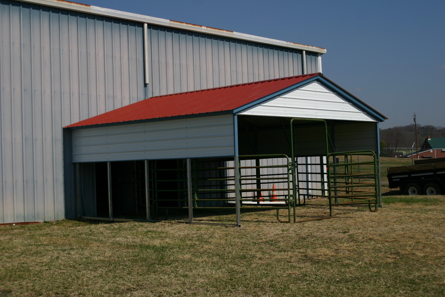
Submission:
[[[317,82],[304,85],[239,114],[375,122],[366,113]]]

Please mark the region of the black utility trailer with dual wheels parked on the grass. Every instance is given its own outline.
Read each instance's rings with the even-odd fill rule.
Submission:
[[[441,195],[445,192],[445,158],[416,160],[415,165],[388,168],[390,188],[406,195]]]

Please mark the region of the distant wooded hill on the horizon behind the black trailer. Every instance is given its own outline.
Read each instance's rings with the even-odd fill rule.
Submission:
[[[415,142],[414,130],[414,125],[380,129],[380,145],[382,148],[395,150],[410,148]],[[431,138],[445,137],[445,127],[417,125],[417,146],[419,149],[428,136],[431,136]]]

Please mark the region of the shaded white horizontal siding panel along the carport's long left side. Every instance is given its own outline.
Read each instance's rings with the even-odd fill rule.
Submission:
[[[234,155],[233,116],[73,130],[73,162]]]

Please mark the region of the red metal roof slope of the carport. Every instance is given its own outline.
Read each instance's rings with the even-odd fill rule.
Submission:
[[[229,85],[151,97],[67,127],[81,127],[231,111],[321,74]]]

